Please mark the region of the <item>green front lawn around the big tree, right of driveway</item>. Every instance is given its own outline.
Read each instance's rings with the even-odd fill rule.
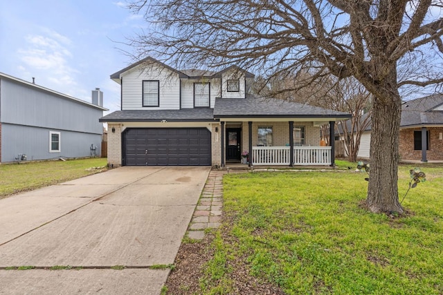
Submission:
[[[202,293],[228,294],[241,263],[287,294],[443,294],[443,169],[419,166],[427,181],[395,218],[359,207],[365,173],[225,175],[227,221]],[[401,197],[413,168],[399,168]]]

